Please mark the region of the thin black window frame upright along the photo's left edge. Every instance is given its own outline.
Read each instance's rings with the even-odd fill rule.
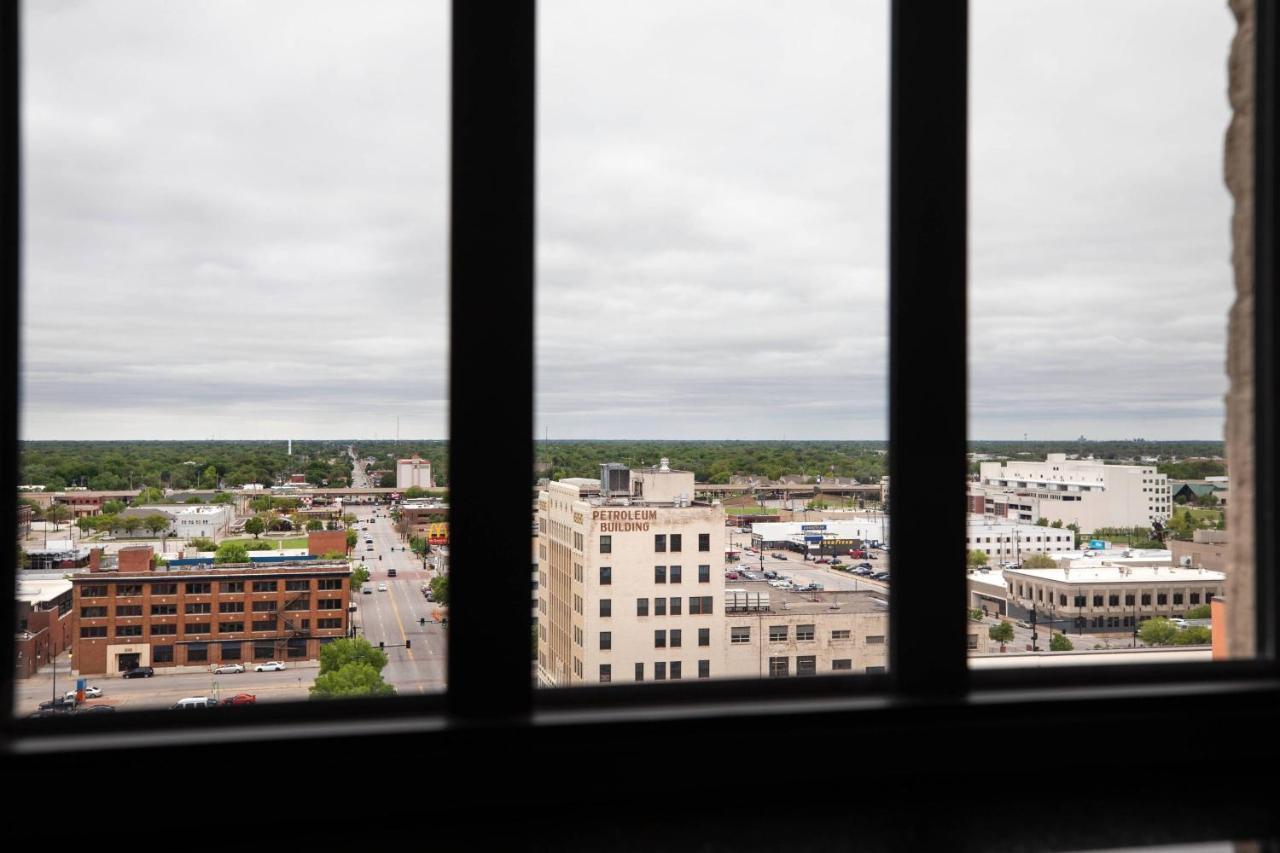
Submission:
[[[9,222],[4,231],[4,302],[0,307],[0,323],[4,330],[4,364],[5,382],[4,398],[10,403],[0,409],[0,483],[4,483],[3,497],[0,497],[0,512],[9,524],[17,524],[18,519],[18,298],[22,284],[22,120],[19,104],[22,96],[22,44],[19,8],[22,4],[10,3],[0,14],[0,64],[4,65],[4,81],[0,88],[4,93],[4,119],[8,128],[4,133],[4,161],[8,167],[0,168],[4,175],[4,184],[0,187],[0,200],[8,206]],[[10,528],[13,530],[13,528]],[[10,551],[10,560],[14,552]],[[18,573],[22,566],[14,566],[13,571],[4,573],[5,606],[4,622],[0,622],[0,635],[3,639],[4,654],[4,697],[0,698],[0,717],[13,719],[13,688],[14,688],[14,634],[17,625],[17,608],[14,602],[18,598]],[[8,726],[6,726],[8,727]]]

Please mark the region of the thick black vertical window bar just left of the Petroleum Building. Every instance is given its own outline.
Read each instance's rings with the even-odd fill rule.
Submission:
[[[535,35],[532,0],[453,4],[448,706],[465,719],[531,702]]]

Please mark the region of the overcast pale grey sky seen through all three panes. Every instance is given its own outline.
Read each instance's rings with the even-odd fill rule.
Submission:
[[[24,8],[24,437],[444,437],[447,4]],[[539,8],[538,435],[883,438],[887,4]],[[1221,437],[1233,29],[973,1],[973,437]]]

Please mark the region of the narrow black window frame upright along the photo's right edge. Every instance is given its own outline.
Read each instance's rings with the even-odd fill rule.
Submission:
[[[1276,201],[1280,199],[1280,90],[1276,88],[1276,51],[1280,49],[1280,10],[1260,1],[1254,29],[1253,86],[1253,461],[1254,469],[1254,597],[1257,603],[1257,653],[1275,661],[1280,648],[1276,619],[1280,617],[1280,584],[1276,557],[1276,484],[1280,455],[1276,448],[1276,398],[1280,369],[1276,365],[1276,332],[1280,329],[1280,268],[1276,257]],[[1243,567],[1242,567],[1243,569]],[[1231,602],[1228,601],[1228,607]]]

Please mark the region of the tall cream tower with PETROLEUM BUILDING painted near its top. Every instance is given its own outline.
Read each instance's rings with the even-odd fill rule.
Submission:
[[[539,493],[540,684],[724,674],[724,510],[692,494],[667,460]]]

